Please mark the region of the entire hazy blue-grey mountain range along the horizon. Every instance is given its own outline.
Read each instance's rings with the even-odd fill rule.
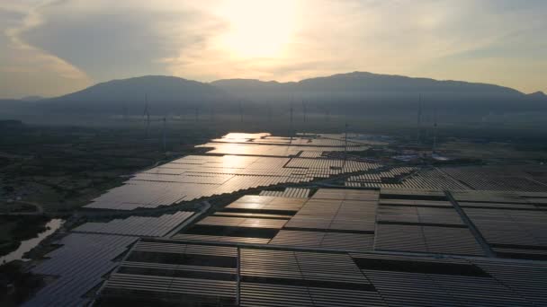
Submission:
[[[280,110],[278,113],[282,113],[291,101],[299,104],[307,101],[309,112],[406,116],[408,112],[416,112],[419,99],[428,110],[435,108],[447,114],[471,114],[477,118],[505,112],[547,111],[547,96],[543,92],[525,94],[487,83],[363,72],[290,83],[254,79],[201,83],[173,76],[149,75],[98,83],[83,91],[36,101],[31,105],[40,112],[57,114],[142,114],[147,94],[148,110],[156,115],[193,112],[189,109],[237,113],[239,103],[245,103],[249,114],[264,113],[266,103],[268,108],[277,108]]]

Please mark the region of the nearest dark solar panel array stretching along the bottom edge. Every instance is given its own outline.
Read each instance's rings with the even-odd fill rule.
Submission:
[[[139,241],[97,306],[539,306],[547,265]]]

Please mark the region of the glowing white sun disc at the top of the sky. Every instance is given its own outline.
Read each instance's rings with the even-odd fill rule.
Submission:
[[[229,28],[220,48],[235,57],[278,57],[294,31],[295,2],[291,0],[233,0],[220,6]]]

